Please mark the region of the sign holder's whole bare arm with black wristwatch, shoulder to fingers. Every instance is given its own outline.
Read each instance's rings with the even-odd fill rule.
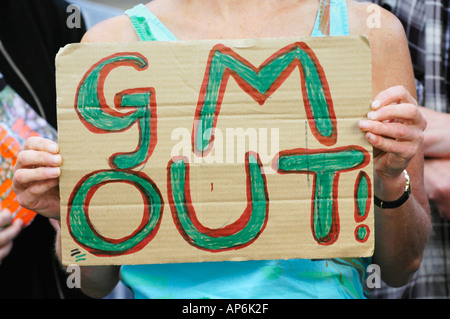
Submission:
[[[365,7],[361,14],[368,15]],[[361,123],[374,147],[374,193],[383,201],[404,192],[406,169],[412,193],[394,209],[375,207],[375,253],[382,279],[390,286],[409,281],[420,266],[430,232],[423,176],[426,121],[415,101],[415,83],[403,26],[380,9],[381,27],[366,27],[372,48],[374,113]],[[369,134],[370,133],[370,134]]]

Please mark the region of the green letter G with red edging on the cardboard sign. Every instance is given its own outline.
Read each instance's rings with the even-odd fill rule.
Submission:
[[[103,94],[107,75],[119,66],[137,70],[147,68],[147,60],[139,53],[117,53],[96,63],[84,76],[77,90],[75,109],[81,122],[94,133],[123,132],[138,124],[139,142],[135,151],[110,157],[114,169],[131,169],[147,161],[156,144],[156,103],[153,88],[125,90],[115,96],[116,109],[106,104]],[[128,109],[128,110],[127,110]]]

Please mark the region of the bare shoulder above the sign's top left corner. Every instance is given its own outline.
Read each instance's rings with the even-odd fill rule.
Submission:
[[[81,42],[125,42],[138,40],[139,38],[133,29],[130,18],[127,15],[120,15],[94,25],[84,34]]]

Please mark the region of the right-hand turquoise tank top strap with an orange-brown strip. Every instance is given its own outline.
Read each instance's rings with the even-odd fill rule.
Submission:
[[[349,35],[346,0],[320,0],[312,37]]]

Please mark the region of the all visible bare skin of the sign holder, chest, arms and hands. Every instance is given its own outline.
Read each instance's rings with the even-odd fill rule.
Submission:
[[[179,40],[219,38],[306,37],[317,16],[317,0],[154,0],[147,7]],[[412,196],[396,209],[376,208],[374,262],[390,285],[405,284],[418,269],[430,231],[424,191],[421,144],[426,120],[418,111],[409,51],[400,22],[381,10],[381,28],[369,29],[367,4],[348,1],[350,33],[369,38],[372,48],[373,113],[360,122],[374,146],[375,194],[396,200],[403,193],[407,169]],[[201,23],[199,23],[201,21]],[[100,23],[82,42],[139,41],[130,20],[119,16]],[[53,150],[49,149],[52,145]],[[56,144],[34,139],[19,154],[14,187],[19,202],[40,214],[59,218],[54,204],[60,158]],[[35,166],[40,166],[35,168]],[[86,267],[82,289],[101,297],[119,280],[119,267]]]

